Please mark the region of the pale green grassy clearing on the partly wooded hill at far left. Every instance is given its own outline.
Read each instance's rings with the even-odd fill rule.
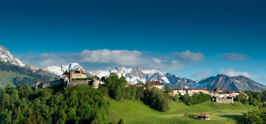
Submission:
[[[16,74],[16,72],[12,72],[12,71],[0,71],[0,86],[1,88],[9,85],[9,86],[15,86],[15,84],[13,84],[13,78],[16,78],[16,76],[24,78],[24,76],[26,75],[21,75],[19,73]],[[27,76],[28,77],[28,76]]]

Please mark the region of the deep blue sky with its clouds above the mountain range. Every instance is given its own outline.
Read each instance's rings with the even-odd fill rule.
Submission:
[[[264,1],[1,1],[0,41],[40,67],[218,73],[266,85]]]

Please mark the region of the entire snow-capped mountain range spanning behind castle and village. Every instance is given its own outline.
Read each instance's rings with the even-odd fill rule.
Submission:
[[[97,75],[98,77],[108,76],[110,73],[117,73],[118,76],[126,77],[127,81],[130,84],[136,84],[137,82],[145,83],[146,81],[156,81],[160,78],[160,81],[165,85],[169,84],[172,88],[207,88],[215,89],[216,87],[221,88],[222,90],[236,90],[236,91],[245,91],[251,90],[255,92],[263,92],[266,90],[266,86],[259,84],[245,76],[235,76],[229,77],[226,75],[217,75],[206,77],[201,80],[191,80],[185,77],[180,77],[178,75],[173,75],[171,73],[163,73],[158,70],[148,70],[142,67],[136,68],[126,68],[126,67],[117,67],[112,70],[96,70],[96,71],[86,71],[80,64],[71,63],[69,65],[61,66],[50,66],[50,67],[37,67],[33,65],[28,65],[27,63],[19,60],[14,57],[13,54],[5,47],[0,46],[0,60],[14,64],[23,68],[31,69],[32,71],[37,71],[42,69],[44,71],[50,72],[58,77],[61,77],[65,70],[82,70],[86,73],[87,77],[92,77]]]

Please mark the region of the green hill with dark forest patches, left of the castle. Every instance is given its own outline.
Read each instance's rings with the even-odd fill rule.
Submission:
[[[30,86],[34,86],[39,79],[41,82],[47,82],[57,80],[59,77],[46,71],[38,70],[33,72],[31,70],[0,61],[0,88],[7,85],[14,87],[26,82]]]

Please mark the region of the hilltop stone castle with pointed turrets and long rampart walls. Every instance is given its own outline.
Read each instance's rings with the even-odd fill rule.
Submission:
[[[99,88],[100,78],[98,76],[93,76],[94,80],[73,80],[75,78],[86,78],[86,74],[82,70],[75,71],[70,69],[62,74],[62,78],[55,81],[49,81],[41,83],[40,80],[36,83],[36,89],[47,88],[49,86],[64,85],[65,87],[72,87],[75,85],[90,85],[93,88]]]

